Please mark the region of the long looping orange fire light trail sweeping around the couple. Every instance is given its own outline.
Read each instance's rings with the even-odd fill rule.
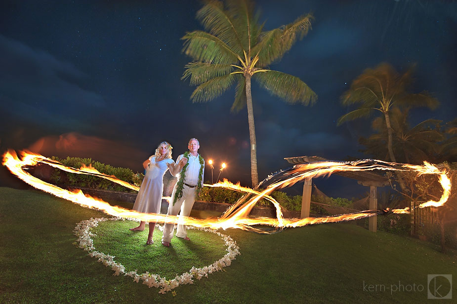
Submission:
[[[80,169],[66,167],[63,164],[53,161],[49,158],[46,158],[39,154],[34,154],[26,151],[21,152],[22,160],[17,156],[16,152],[8,150],[3,154],[2,164],[5,165],[12,174],[16,175],[18,178],[26,182],[27,184],[43,190],[45,192],[51,193],[55,196],[70,200],[72,202],[78,203],[82,206],[88,208],[97,208],[109,215],[123,218],[137,218],[145,222],[159,222],[159,223],[177,223],[178,217],[176,216],[167,216],[163,214],[154,214],[154,213],[139,213],[133,210],[128,210],[118,206],[111,206],[109,203],[93,198],[87,194],[83,194],[81,190],[69,191],[61,189],[52,184],[43,182],[42,180],[32,176],[24,170],[26,166],[35,166],[37,163],[45,163],[52,167],[59,168],[71,173],[77,174],[90,174],[97,177],[105,178],[120,185],[123,185],[129,189],[138,190],[137,186],[131,185],[124,181],[118,180],[113,176],[108,176],[102,174],[95,170],[92,167],[83,166]],[[191,217],[184,217],[184,225],[194,226],[194,227],[204,227],[204,228],[241,228],[245,230],[260,232],[260,233],[272,233],[272,231],[264,231],[259,228],[254,228],[254,225],[268,225],[276,228],[285,228],[285,227],[302,227],[306,225],[314,225],[321,223],[335,223],[341,221],[352,221],[356,219],[367,218],[375,216],[377,214],[383,214],[385,212],[393,213],[409,213],[408,208],[405,209],[394,209],[394,210],[367,210],[360,213],[353,214],[344,214],[339,216],[330,216],[322,218],[305,218],[305,219],[285,219],[281,212],[280,204],[271,196],[271,192],[276,189],[282,189],[288,186],[291,186],[303,179],[314,178],[319,176],[331,175],[334,172],[341,171],[365,171],[365,170],[390,170],[390,171],[408,171],[414,170],[418,172],[418,175],[422,174],[438,174],[439,181],[443,187],[443,195],[439,201],[428,201],[419,205],[419,208],[424,208],[427,206],[442,206],[450,195],[451,190],[451,181],[446,174],[445,170],[439,170],[433,165],[424,162],[423,166],[418,165],[409,165],[409,164],[398,164],[392,162],[384,162],[379,160],[359,160],[355,162],[318,162],[307,165],[295,165],[289,170],[282,171],[284,179],[281,179],[275,183],[272,183],[264,190],[256,191],[249,188],[240,186],[239,184],[234,185],[227,180],[219,182],[214,185],[206,185],[208,187],[222,187],[227,189],[232,189],[240,192],[245,192],[248,194],[253,194],[254,196],[250,198],[247,202],[243,203],[246,200],[246,197],[242,197],[238,202],[236,202],[232,207],[230,207],[221,217],[214,219],[196,219]],[[168,198],[169,197],[165,197]],[[276,208],[276,219],[258,217],[258,218],[248,218],[250,211],[253,206],[261,199],[266,198],[272,202]]]

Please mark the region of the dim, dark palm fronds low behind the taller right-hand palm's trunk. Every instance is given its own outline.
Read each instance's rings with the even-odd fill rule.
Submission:
[[[412,164],[421,164],[424,160],[434,161],[433,157],[439,151],[439,142],[444,139],[438,126],[441,120],[426,119],[411,128],[407,121],[408,112],[409,109],[391,109],[390,121],[394,133],[392,150],[396,160]],[[367,147],[365,153],[387,160],[388,133],[384,117],[375,118],[372,126],[377,133],[369,138],[361,138],[360,143]]]

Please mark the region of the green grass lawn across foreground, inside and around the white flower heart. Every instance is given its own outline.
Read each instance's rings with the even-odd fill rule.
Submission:
[[[222,231],[240,247],[232,265],[179,286],[175,297],[160,295],[141,281],[113,276],[73,245],[77,223],[104,216],[38,190],[0,188],[0,303],[425,303],[432,301],[427,274],[452,274],[457,299],[455,251],[442,254],[430,243],[352,224],[271,235]],[[173,238],[165,248],[157,229],[156,243],[145,246],[147,231],[127,230],[135,224],[110,221],[93,229],[96,249],[115,255],[127,271],[149,268],[168,278],[225,254],[217,235],[197,230],[189,231],[190,242]],[[407,291],[413,284],[416,291]]]

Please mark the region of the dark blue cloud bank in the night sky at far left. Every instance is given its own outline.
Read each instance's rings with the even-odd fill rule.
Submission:
[[[87,75],[74,64],[1,35],[0,52],[3,94],[37,108],[65,105],[76,110],[87,105],[106,106],[99,94],[81,87],[81,80]]]

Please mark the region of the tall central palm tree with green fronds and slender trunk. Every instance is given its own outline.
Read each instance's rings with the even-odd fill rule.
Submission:
[[[314,103],[317,95],[298,77],[268,69],[279,61],[298,38],[311,28],[313,16],[307,14],[289,25],[263,31],[259,15],[249,0],[208,1],[197,19],[205,31],[187,33],[183,52],[193,61],[186,65],[182,79],[190,77],[197,85],[193,102],[208,102],[236,83],[232,111],[248,108],[251,179],[258,185],[254,114],[251,79],[287,102]]]

